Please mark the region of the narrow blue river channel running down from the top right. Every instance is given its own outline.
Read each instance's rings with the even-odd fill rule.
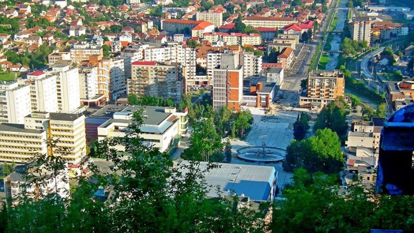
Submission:
[[[342,32],[343,27],[345,26],[345,21],[348,16],[348,8],[346,7],[346,3],[348,0],[341,0],[339,4],[339,9],[337,9],[336,17],[338,18],[338,24],[335,29],[331,31]],[[329,56],[329,63],[326,64],[326,70],[332,71],[338,65],[338,57],[339,57],[339,46],[340,46],[340,34],[333,34],[334,39],[330,42],[331,50],[327,52]]]

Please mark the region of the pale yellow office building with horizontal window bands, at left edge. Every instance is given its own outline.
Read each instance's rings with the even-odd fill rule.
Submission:
[[[47,138],[58,140],[53,151]],[[86,155],[85,116],[32,112],[24,124],[0,124],[0,162],[25,163],[36,153],[62,155],[72,174],[80,174],[77,168]]]

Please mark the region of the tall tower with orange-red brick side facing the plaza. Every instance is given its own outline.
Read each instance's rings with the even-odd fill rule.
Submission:
[[[243,66],[237,54],[223,54],[220,66],[213,69],[213,108],[227,105],[239,111],[243,98]]]

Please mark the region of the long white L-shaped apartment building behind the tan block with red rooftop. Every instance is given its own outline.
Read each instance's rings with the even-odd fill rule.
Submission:
[[[144,50],[145,61],[181,63],[186,69],[184,77],[188,85],[195,82],[196,53],[193,48],[169,43],[167,47],[151,47]]]

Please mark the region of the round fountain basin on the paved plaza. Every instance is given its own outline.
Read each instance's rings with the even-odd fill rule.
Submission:
[[[281,148],[266,146],[246,146],[237,150],[237,158],[252,162],[279,162],[284,159],[286,151]]]

